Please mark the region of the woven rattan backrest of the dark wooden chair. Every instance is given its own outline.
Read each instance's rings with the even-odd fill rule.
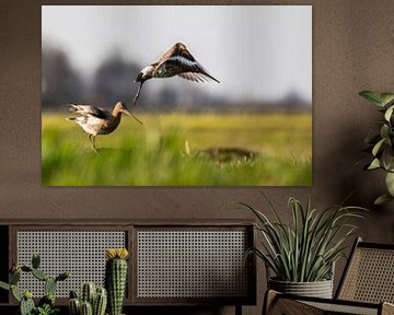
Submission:
[[[336,299],[394,303],[394,244],[357,238]]]

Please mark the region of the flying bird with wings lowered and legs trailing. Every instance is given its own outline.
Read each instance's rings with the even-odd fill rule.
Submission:
[[[174,75],[179,75],[193,82],[213,80],[220,83],[192,56],[184,44],[176,43],[157,62],[143,68],[137,75],[136,82],[140,82],[140,85],[132,101],[134,106],[137,104],[144,81],[152,78],[170,78]]]

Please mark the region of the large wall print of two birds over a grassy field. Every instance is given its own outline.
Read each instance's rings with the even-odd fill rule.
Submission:
[[[43,5],[42,184],[312,185],[312,7]]]

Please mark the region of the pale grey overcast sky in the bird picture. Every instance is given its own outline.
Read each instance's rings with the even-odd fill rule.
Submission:
[[[43,44],[85,74],[115,51],[144,66],[181,42],[220,80],[199,84],[209,93],[312,101],[311,5],[43,5],[42,14]],[[194,84],[166,80],[158,89]]]

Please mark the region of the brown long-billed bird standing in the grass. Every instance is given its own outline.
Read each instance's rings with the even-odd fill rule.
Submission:
[[[70,112],[79,114],[78,117],[66,118],[76,121],[88,133],[89,142],[93,151],[97,152],[95,137],[97,135],[108,135],[120,124],[121,113],[131,115],[121,102],[116,103],[112,112],[91,105],[70,104]]]

